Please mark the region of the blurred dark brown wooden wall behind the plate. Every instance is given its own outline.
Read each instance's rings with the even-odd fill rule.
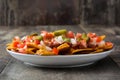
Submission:
[[[1,26],[120,25],[120,0],[0,0]]]

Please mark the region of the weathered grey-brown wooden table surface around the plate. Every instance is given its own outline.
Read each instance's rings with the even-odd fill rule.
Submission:
[[[42,68],[25,65],[11,57],[5,50],[6,43],[16,36],[24,36],[40,30],[67,29],[74,32],[105,34],[115,50],[97,63],[77,68]],[[120,27],[103,25],[74,26],[0,26],[0,80],[119,80],[120,79]]]

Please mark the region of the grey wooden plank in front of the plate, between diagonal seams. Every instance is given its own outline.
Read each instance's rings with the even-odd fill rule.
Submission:
[[[1,80],[119,80],[120,68],[107,57],[94,65],[78,68],[40,68],[12,60]]]

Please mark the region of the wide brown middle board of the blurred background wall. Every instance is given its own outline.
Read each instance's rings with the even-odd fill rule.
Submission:
[[[78,1],[78,0],[77,0]],[[68,4],[69,3],[69,4]],[[74,0],[15,0],[9,4],[9,25],[79,23],[79,3]],[[14,17],[14,19],[12,19]],[[76,18],[78,17],[78,20]]]

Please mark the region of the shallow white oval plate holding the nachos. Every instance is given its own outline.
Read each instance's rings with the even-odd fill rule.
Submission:
[[[79,54],[79,55],[58,55],[58,56],[39,56],[21,54],[7,50],[14,58],[23,61],[26,64],[41,67],[77,67],[93,64],[108,56],[112,50],[96,54]]]

